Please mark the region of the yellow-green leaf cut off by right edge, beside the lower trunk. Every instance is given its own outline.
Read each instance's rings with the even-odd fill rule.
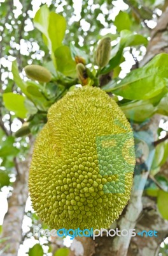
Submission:
[[[157,207],[158,211],[165,220],[168,220],[168,193],[162,190],[158,191]]]

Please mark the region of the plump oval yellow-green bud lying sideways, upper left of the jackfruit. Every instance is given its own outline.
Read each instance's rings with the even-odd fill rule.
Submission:
[[[42,83],[48,83],[52,79],[52,74],[45,67],[39,65],[27,65],[24,70],[29,78]]]

